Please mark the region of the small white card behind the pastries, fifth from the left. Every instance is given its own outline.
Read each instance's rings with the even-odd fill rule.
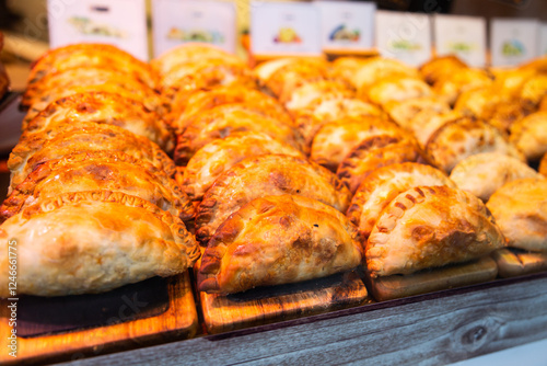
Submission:
[[[420,66],[431,58],[431,20],[427,14],[376,12],[376,48],[384,57]]]

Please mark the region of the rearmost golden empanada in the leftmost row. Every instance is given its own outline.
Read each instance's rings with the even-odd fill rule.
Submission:
[[[27,84],[32,87],[51,72],[88,67],[116,69],[142,81],[149,88],[158,85],[158,75],[148,64],[118,47],[92,43],[50,49],[32,67]]]

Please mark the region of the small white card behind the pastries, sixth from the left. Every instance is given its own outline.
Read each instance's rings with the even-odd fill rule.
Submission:
[[[433,16],[439,56],[456,55],[472,67],[486,66],[486,20],[476,16]]]

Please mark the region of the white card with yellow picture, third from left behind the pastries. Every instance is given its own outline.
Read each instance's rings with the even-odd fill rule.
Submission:
[[[319,10],[311,3],[251,2],[251,49],[255,55],[319,56]]]

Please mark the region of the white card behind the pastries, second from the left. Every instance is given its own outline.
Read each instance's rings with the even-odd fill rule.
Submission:
[[[154,57],[187,42],[205,42],[235,53],[233,3],[208,0],[153,0]]]

